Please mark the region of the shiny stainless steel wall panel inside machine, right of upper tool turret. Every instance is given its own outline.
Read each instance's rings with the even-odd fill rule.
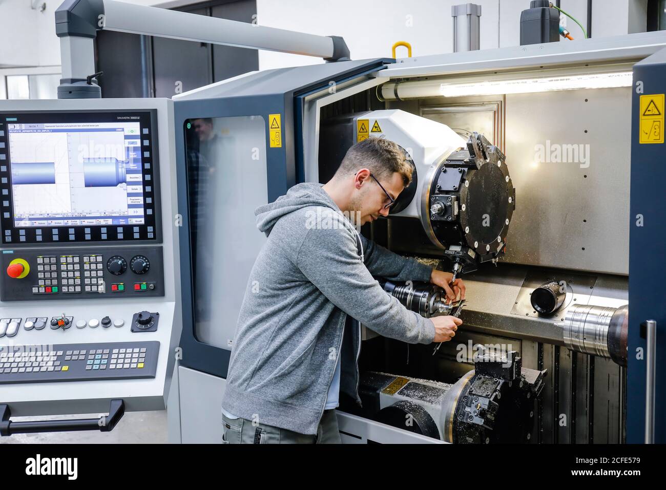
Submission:
[[[628,87],[507,95],[516,208],[503,260],[628,273],[630,109]],[[557,148],[569,161],[535,161]]]

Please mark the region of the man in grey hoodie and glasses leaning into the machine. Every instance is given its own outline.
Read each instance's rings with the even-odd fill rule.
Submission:
[[[410,183],[400,146],[352,146],[326,184],[302,183],[254,212],[268,239],[245,291],[222,398],[224,443],[339,443],[340,391],[358,397],[360,324],[410,344],[446,342],[462,321],[424,318],[373,277],[430,281],[450,300],[452,274],[404,258],[358,232],[387,216]]]

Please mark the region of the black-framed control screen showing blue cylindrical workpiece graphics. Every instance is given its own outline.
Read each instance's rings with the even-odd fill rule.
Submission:
[[[151,111],[1,116],[3,242],[157,238]]]

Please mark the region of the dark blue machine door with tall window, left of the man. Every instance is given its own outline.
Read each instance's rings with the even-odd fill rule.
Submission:
[[[251,301],[246,288],[259,287],[247,284],[266,240],[254,210],[303,179],[302,96],[367,79],[390,61],[255,72],[174,97],[180,367],[226,378],[240,306]]]

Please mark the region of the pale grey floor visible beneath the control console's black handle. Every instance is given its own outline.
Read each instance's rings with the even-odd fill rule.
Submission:
[[[12,421],[90,418],[91,415],[12,417]],[[0,444],[166,444],[166,410],[126,412],[111,432],[81,431],[17,434],[0,437]]]

